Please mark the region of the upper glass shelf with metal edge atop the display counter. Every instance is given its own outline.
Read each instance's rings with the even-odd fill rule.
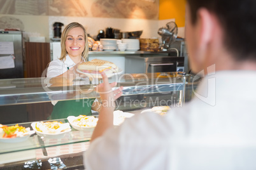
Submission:
[[[110,77],[110,82],[118,82],[117,86],[124,86],[123,95],[143,95],[148,93],[162,93],[166,91],[183,91],[185,80],[190,75],[178,72],[153,74],[122,74]],[[53,100],[74,100],[83,98],[99,98],[94,91],[96,84],[65,86],[62,78],[55,79],[47,86],[45,77],[28,79],[2,79],[0,80],[0,106],[39,103]],[[94,80],[101,82],[101,79]],[[77,84],[77,82],[76,82]]]

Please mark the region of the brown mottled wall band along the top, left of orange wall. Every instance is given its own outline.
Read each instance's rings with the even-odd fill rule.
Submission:
[[[0,0],[0,13],[158,20],[159,0]]]

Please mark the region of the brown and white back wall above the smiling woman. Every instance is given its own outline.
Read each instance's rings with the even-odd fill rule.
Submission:
[[[54,22],[80,22],[90,36],[112,27],[143,30],[143,38],[159,37],[157,30],[170,20],[158,18],[159,0],[0,0],[0,29],[19,27],[48,42]]]

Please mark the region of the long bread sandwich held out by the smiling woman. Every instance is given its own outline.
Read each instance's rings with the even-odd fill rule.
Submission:
[[[111,74],[118,72],[118,67],[112,62],[108,62],[106,60],[94,59],[90,62],[80,63],[78,65],[78,69],[82,72],[99,74],[101,72],[105,72],[106,74]]]

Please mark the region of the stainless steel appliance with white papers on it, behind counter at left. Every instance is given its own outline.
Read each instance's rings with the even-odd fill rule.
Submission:
[[[6,53],[3,53],[1,49],[0,60],[2,59],[5,62],[7,56],[13,55],[14,67],[8,69],[0,68],[0,79],[15,79],[15,78],[24,78],[24,62],[23,62],[23,48],[22,48],[22,32],[20,31],[0,31],[0,48],[12,48],[13,53],[9,53],[6,50]]]

